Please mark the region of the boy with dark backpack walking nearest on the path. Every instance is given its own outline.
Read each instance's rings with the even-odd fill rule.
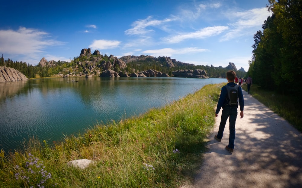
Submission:
[[[218,142],[221,142],[221,139],[223,137],[224,127],[226,125],[226,120],[229,118],[229,122],[230,122],[229,144],[225,148],[230,152],[234,151],[235,124],[238,115],[237,98],[239,99],[239,105],[240,105],[240,114],[239,114],[240,118],[243,118],[243,107],[244,107],[241,87],[239,87],[239,85],[236,85],[234,83],[235,76],[236,76],[236,72],[234,72],[233,70],[229,70],[228,72],[226,72],[226,79],[229,83],[227,83],[225,86],[221,88],[221,93],[218,100],[217,109],[215,112],[215,117],[218,117],[218,113],[222,107],[219,131],[218,134],[216,134],[214,137]]]

